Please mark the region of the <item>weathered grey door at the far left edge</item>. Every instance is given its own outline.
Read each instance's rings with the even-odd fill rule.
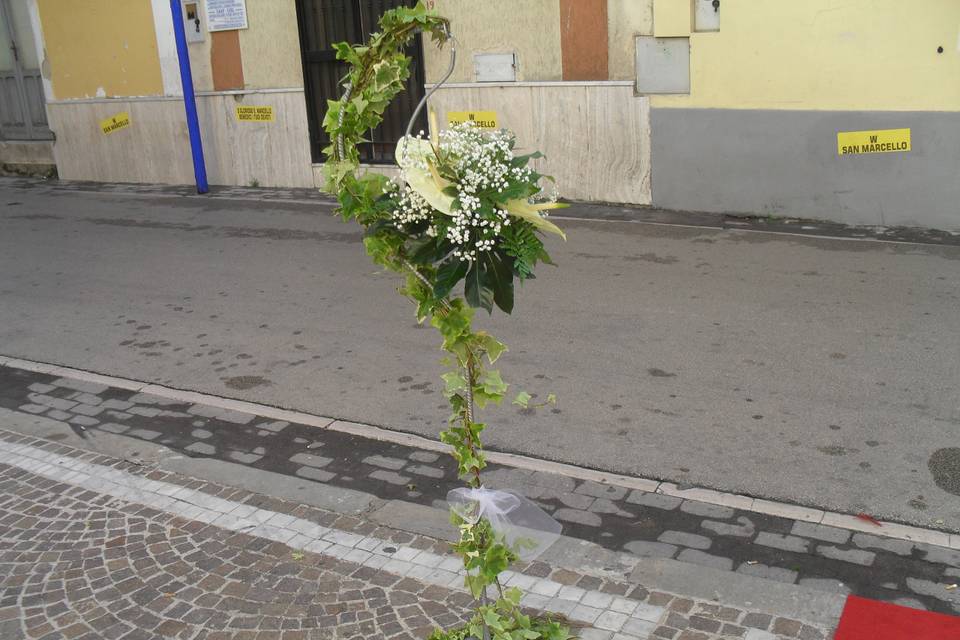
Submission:
[[[26,2],[0,0],[0,138],[52,140]]]

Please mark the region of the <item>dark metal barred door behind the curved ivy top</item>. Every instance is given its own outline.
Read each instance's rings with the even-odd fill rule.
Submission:
[[[330,140],[321,123],[327,112],[327,100],[340,98],[343,92],[341,81],[347,74],[347,66],[336,59],[333,44],[343,41],[351,44],[364,42],[376,30],[384,12],[412,4],[414,0],[297,0],[310,150],[314,162],[326,160],[321,150]],[[417,36],[407,55],[413,58],[407,88],[387,107],[383,123],[366,136],[369,142],[358,145],[362,162],[393,162],[394,147],[423,97],[425,74],[420,36]],[[426,116],[421,116],[419,120],[414,129],[426,129]]]

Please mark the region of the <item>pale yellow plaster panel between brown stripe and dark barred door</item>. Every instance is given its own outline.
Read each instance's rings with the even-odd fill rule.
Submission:
[[[300,32],[294,0],[247,0],[249,29],[240,31],[248,89],[303,86]]]

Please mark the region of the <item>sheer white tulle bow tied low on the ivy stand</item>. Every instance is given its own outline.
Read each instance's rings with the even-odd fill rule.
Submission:
[[[560,537],[562,525],[529,499],[512,491],[463,487],[447,493],[447,502],[466,522],[486,518],[504,543],[520,556],[533,560]]]

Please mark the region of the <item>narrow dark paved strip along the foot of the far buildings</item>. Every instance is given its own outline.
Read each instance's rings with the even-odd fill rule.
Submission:
[[[113,193],[141,196],[197,197],[192,185],[127,184],[82,181],[44,180],[40,178],[0,177],[7,188],[30,189],[46,193]],[[265,200],[271,202],[334,203],[333,198],[318,189],[260,188],[239,186],[211,186],[209,193],[200,196],[214,199]],[[936,229],[912,227],[852,227],[836,222],[805,220],[802,218],[770,218],[767,216],[730,215],[691,211],[670,211],[652,207],[624,207],[602,204],[576,203],[558,218],[583,216],[601,220],[633,220],[657,224],[682,224],[719,229],[746,229],[809,236],[840,238],[867,238],[894,242],[960,245],[960,236]]]

